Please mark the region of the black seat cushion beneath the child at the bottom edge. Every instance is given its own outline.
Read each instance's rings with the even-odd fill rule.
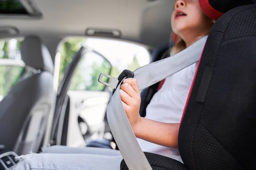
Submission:
[[[144,153],[153,170],[188,170],[184,164],[174,159],[154,153]],[[128,170],[124,160],[121,162],[120,170]]]

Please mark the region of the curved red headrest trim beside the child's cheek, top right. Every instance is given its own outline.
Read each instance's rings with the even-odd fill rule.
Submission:
[[[213,20],[218,20],[218,18],[221,17],[221,15],[223,14],[222,12],[214,9],[209,4],[209,0],[199,0],[199,4],[204,14],[206,14],[208,17],[212,18]]]

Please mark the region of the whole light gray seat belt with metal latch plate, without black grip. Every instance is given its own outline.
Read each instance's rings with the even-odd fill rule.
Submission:
[[[201,38],[185,50],[172,57],[153,62],[135,70],[134,78],[137,79],[140,90],[198,62],[206,40],[207,36]],[[112,83],[109,84],[107,82],[103,82],[103,76],[111,78]],[[116,88],[115,86],[117,85],[118,80],[102,73],[99,77],[99,82],[114,89]],[[119,93],[121,84],[122,82],[116,88],[107,108],[107,118],[111,132],[129,170],[152,170],[145,154],[137,142],[136,136],[134,135],[122,106]]]

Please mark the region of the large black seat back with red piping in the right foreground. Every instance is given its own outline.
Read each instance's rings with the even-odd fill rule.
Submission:
[[[207,39],[180,125],[179,150],[189,170],[256,169],[256,5],[225,13]],[[212,78],[196,102],[206,67]]]

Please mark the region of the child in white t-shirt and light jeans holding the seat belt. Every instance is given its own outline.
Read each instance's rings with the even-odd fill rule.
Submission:
[[[179,37],[171,54],[176,54],[209,34],[214,21],[208,18],[198,0],[176,0],[172,12],[172,31]],[[140,117],[140,91],[136,79],[125,79],[120,95],[129,122],[142,150],[181,161],[177,136],[186,98],[195,75],[197,63],[166,78]],[[15,170],[118,170],[122,156],[118,150],[81,148],[64,154],[32,153],[21,157]]]

